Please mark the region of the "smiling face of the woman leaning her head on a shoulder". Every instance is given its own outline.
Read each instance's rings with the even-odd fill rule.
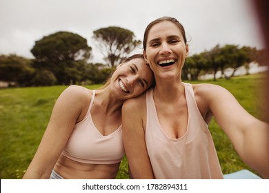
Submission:
[[[135,98],[150,88],[154,81],[152,70],[143,59],[132,59],[117,66],[111,77],[110,89],[117,99]]]

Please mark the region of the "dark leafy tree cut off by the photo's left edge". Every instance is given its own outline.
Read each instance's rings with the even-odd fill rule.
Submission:
[[[16,54],[0,55],[0,80],[16,85],[30,85],[34,68],[32,61]]]

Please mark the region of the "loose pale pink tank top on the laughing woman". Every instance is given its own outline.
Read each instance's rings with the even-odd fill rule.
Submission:
[[[153,90],[146,94],[146,144],[155,179],[223,179],[215,145],[197,107],[192,85],[184,85],[188,128],[179,139],[171,139],[161,128]]]

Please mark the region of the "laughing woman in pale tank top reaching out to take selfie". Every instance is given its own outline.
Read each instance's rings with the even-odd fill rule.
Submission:
[[[208,130],[213,116],[241,159],[269,178],[269,125],[219,85],[181,81],[185,30],[161,17],[146,28],[143,54],[156,85],[123,104],[123,143],[135,179],[223,179]],[[135,137],[134,137],[135,136]]]

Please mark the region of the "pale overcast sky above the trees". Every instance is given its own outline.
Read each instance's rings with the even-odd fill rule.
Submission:
[[[94,30],[119,26],[142,40],[148,23],[162,16],[183,24],[190,55],[217,44],[265,47],[251,0],[0,0],[0,54],[33,58],[35,41],[68,31],[88,39],[92,62],[103,62]]]

